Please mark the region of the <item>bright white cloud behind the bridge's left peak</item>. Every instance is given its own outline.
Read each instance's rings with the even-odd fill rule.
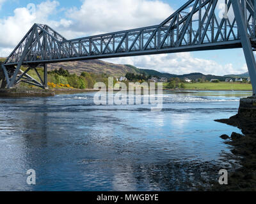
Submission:
[[[1,56],[10,54],[9,50],[13,50],[35,23],[49,24],[52,27],[60,28],[60,30],[70,25],[70,20],[61,19],[58,22],[49,19],[52,13],[58,13],[59,4],[58,1],[45,1],[36,5],[35,9],[29,6],[28,8],[16,8],[13,11],[13,16],[0,19]]]

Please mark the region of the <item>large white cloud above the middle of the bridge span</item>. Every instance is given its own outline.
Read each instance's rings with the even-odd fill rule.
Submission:
[[[67,11],[74,27],[84,33],[106,33],[160,24],[173,13],[169,4],[148,0],[84,0]]]

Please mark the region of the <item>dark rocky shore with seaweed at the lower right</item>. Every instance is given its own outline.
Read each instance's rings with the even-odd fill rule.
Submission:
[[[216,121],[236,126],[243,135],[232,133],[231,136],[221,136],[232,147],[231,152],[241,167],[229,173],[227,186],[216,186],[214,190],[256,191],[256,98],[241,99],[237,115]],[[227,156],[227,159],[233,158]]]

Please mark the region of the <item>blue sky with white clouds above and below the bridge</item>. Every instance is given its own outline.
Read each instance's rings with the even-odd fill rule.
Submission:
[[[186,0],[0,0],[0,57],[6,57],[36,22],[68,39],[156,25]],[[184,74],[244,73],[243,50],[121,57],[104,61]]]

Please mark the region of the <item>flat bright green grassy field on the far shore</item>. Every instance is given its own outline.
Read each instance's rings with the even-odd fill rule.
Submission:
[[[185,89],[195,89],[195,90],[252,90],[252,84],[243,84],[243,83],[186,83]]]

